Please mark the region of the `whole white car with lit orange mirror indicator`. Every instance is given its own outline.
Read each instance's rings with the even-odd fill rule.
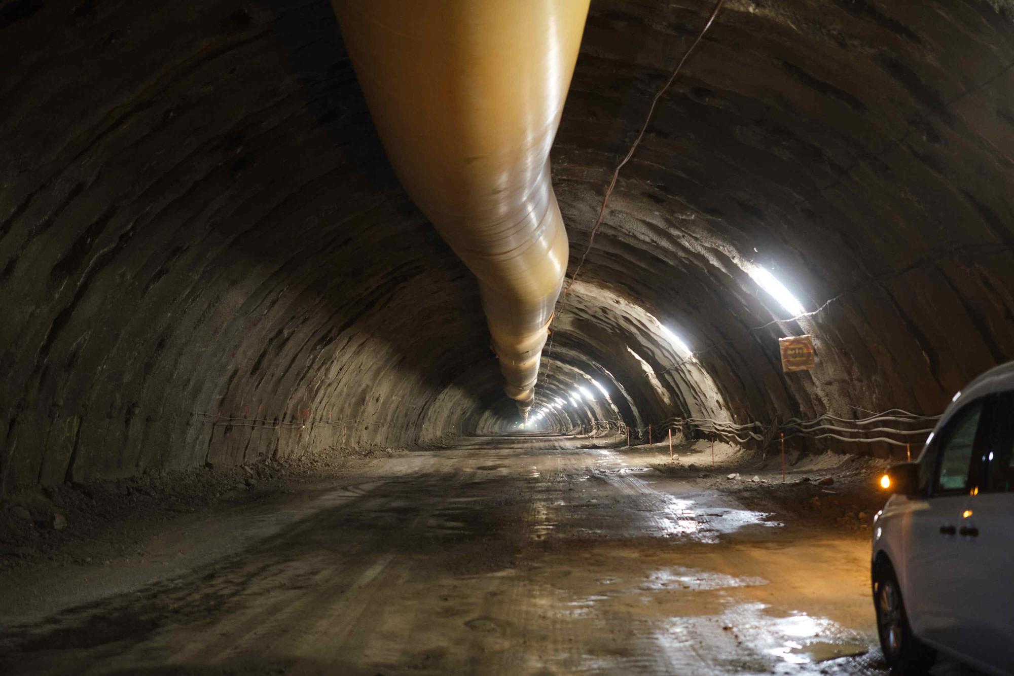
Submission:
[[[884,659],[925,673],[937,652],[1014,674],[1014,362],[954,396],[919,460],[881,478],[873,602]]]

